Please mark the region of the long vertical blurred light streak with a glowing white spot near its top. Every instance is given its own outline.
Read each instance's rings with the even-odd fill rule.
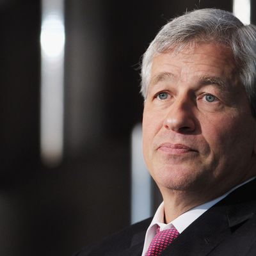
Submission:
[[[40,44],[40,150],[43,163],[54,167],[63,157],[63,0],[42,0]]]

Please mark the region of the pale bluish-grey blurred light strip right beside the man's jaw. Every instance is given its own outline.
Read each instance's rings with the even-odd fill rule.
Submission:
[[[132,129],[131,224],[151,216],[152,179],[142,154],[142,129],[138,124]]]

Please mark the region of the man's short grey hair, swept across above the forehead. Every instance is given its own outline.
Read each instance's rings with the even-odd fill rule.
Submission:
[[[246,90],[253,116],[256,117],[256,26],[244,25],[232,13],[224,10],[194,10],[163,26],[143,55],[143,97],[147,97],[154,56],[171,50],[180,51],[195,42],[216,42],[232,50],[240,81]]]

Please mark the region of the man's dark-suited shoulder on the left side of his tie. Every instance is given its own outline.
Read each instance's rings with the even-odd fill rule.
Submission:
[[[132,243],[143,246],[145,234],[151,221],[152,218],[148,218],[115,232],[98,243],[84,247],[74,256],[122,255],[122,252],[128,250]]]

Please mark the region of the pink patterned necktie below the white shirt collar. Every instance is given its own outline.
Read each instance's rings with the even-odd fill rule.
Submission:
[[[163,252],[177,236],[179,236],[179,232],[175,227],[160,231],[159,226],[157,226],[156,236],[150,243],[146,256],[161,255],[161,252]]]

